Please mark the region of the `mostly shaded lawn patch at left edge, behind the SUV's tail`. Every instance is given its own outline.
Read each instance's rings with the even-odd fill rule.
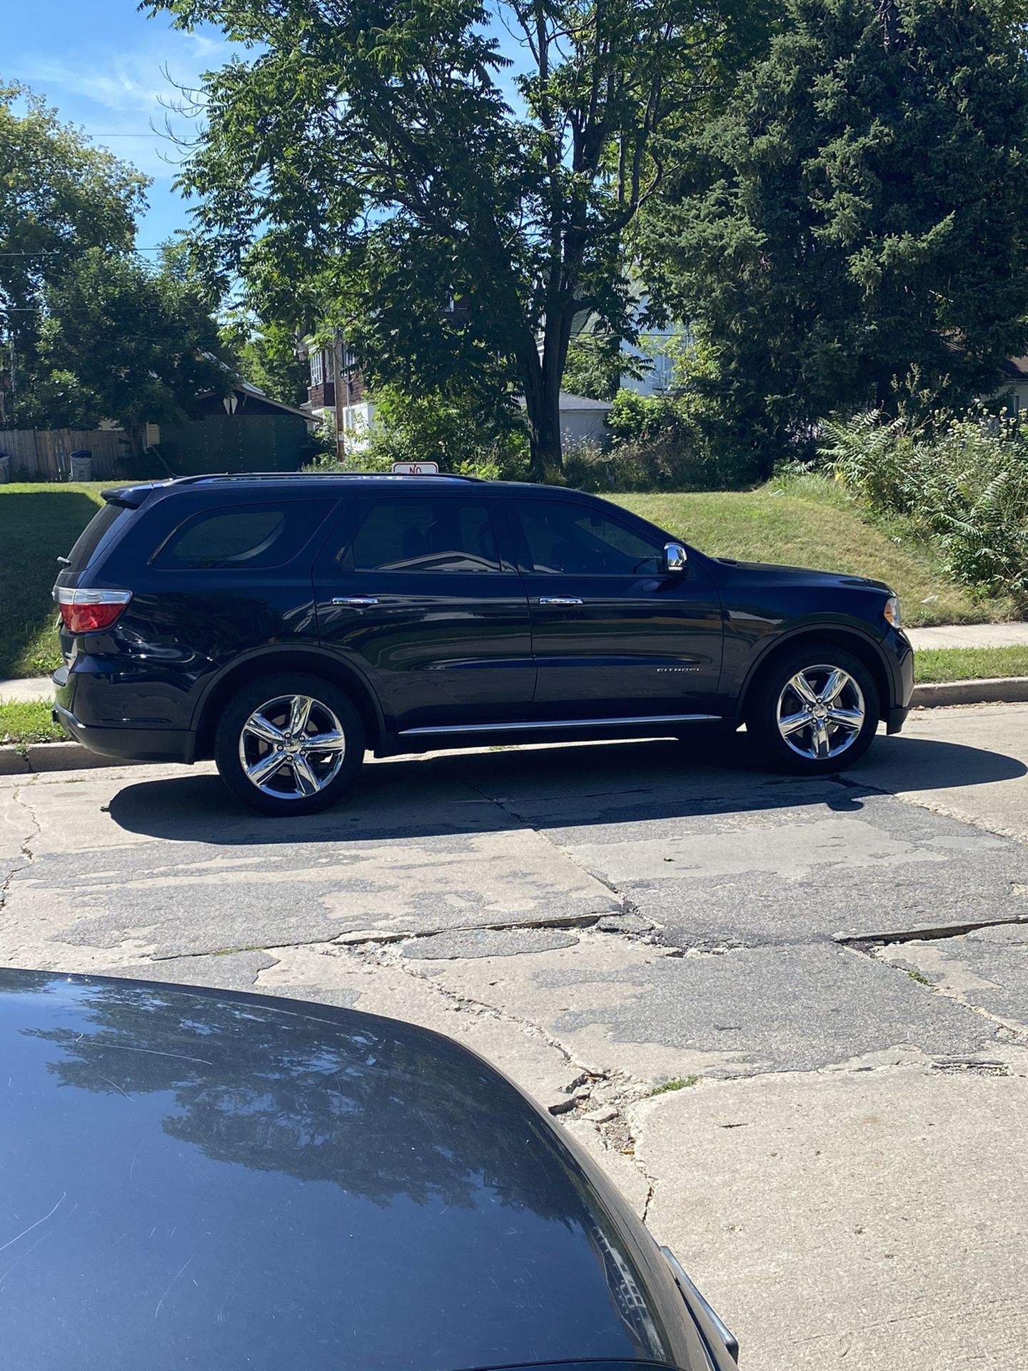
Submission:
[[[110,484],[0,485],[0,679],[60,665],[51,599],[58,557],[71,550]]]

